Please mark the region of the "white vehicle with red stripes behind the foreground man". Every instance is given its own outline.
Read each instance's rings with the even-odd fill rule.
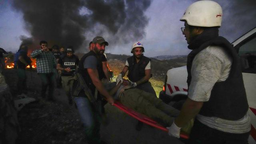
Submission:
[[[244,87],[250,109],[252,126],[248,142],[256,144],[256,27],[232,44],[241,58]],[[187,76],[186,66],[168,70],[159,98],[180,109],[188,96]]]

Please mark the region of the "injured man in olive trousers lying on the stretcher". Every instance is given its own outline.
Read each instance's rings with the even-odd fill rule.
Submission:
[[[128,108],[156,120],[163,126],[171,126],[174,118],[180,113],[179,110],[165,104],[153,94],[133,88],[128,80],[124,80],[123,83],[119,82],[117,85],[116,82],[104,84],[104,87],[114,100],[119,100]],[[193,119],[181,131],[189,134],[192,126]]]

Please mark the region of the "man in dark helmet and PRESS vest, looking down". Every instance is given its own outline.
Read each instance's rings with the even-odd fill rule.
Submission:
[[[74,49],[72,46],[68,46],[66,55],[58,61],[57,69],[61,70],[62,88],[64,89],[66,96],[68,96],[68,103],[72,105],[72,98],[70,90],[73,86],[73,73],[78,66],[79,59],[74,55]]]

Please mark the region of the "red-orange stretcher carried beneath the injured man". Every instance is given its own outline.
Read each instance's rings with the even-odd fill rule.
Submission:
[[[160,124],[158,124],[156,121],[154,121],[153,119],[149,118],[148,116],[145,116],[144,114],[140,114],[138,112],[135,112],[134,110],[127,108],[126,106],[124,106],[121,102],[116,101],[114,103],[114,106],[116,106],[117,108],[119,108],[120,110],[122,110],[123,112],[125,112],[126,114],[136,118],[137,120],[148,124],[150,126],[153,126],[155,128],[158,128],[160,130],[163,130],[165,132],[168,132],[168,129],[161,126]],[[189,136],[187,134],[184,133],[180,133],[180,138],[184,138],[184,139],[188,139]]]

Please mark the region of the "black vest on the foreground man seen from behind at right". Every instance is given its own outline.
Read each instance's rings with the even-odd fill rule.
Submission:
[[[233,46],[225,38],[218,36],[202,44],[188,54],[188,88],[192,79],[191,67],[196,54],[208,46],[220,46],[232,57],[232,66],[228,78],[216,82],[212,88],[210,99],[204,102],[199,114],[208,117],[218,117],[225,120],[239,120],[248,111],[248,102],[242,77],[240,58]]]

